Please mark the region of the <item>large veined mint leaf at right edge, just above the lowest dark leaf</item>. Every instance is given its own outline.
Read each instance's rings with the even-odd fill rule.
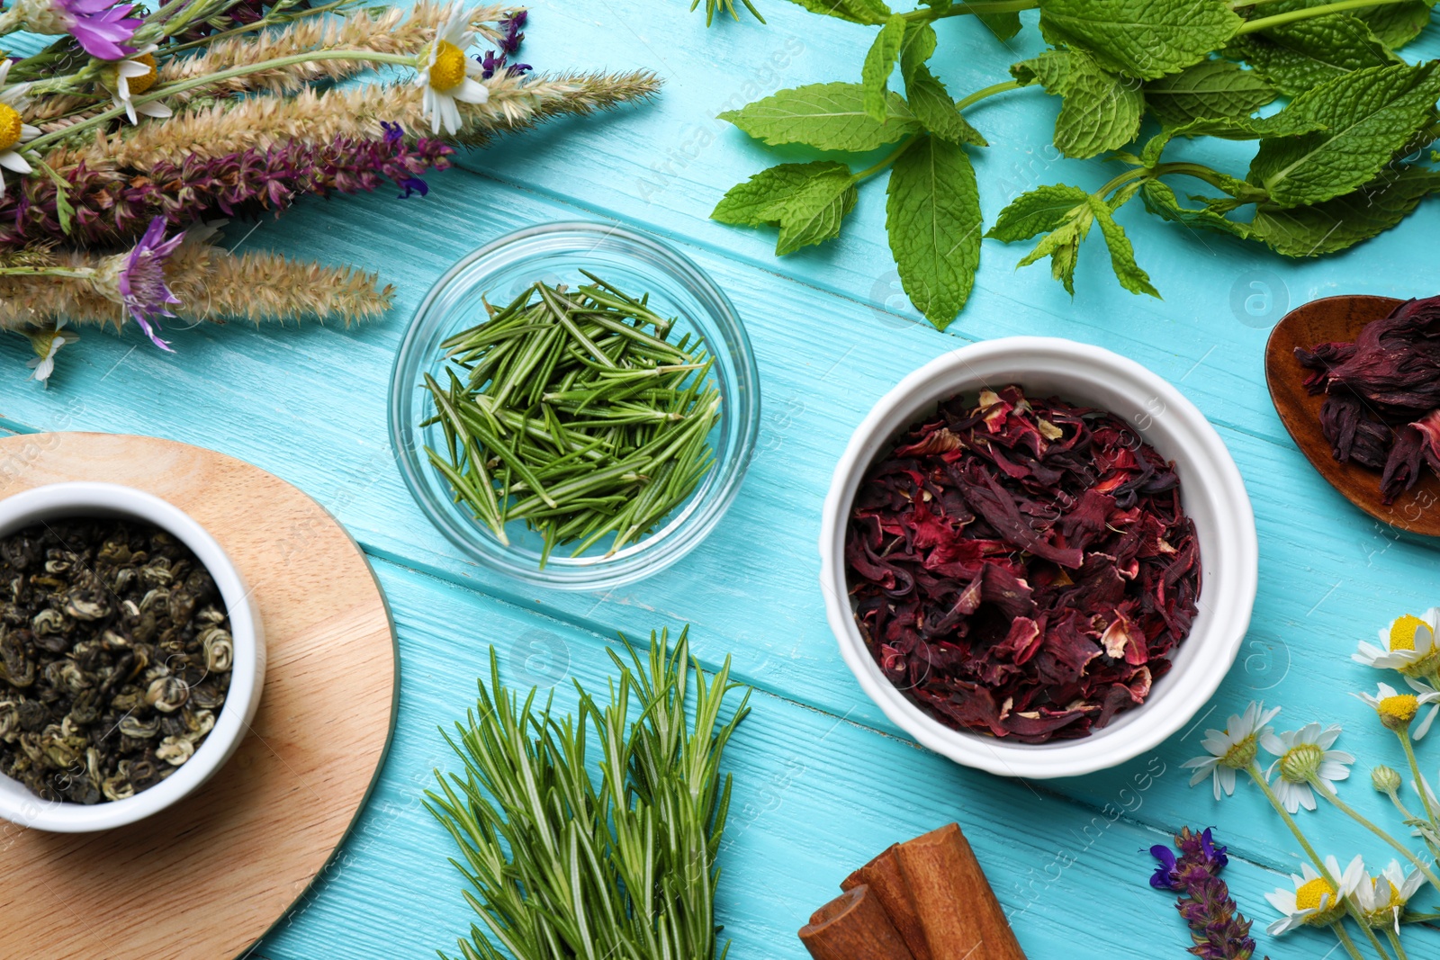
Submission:
[[[1322,203],[1380,174],[1434,112],[1436,63],[1356,71],[1316,86],[1282,112],[1325,125],[1299,137],[1263,140],[1250,183],[1280,207]]]

